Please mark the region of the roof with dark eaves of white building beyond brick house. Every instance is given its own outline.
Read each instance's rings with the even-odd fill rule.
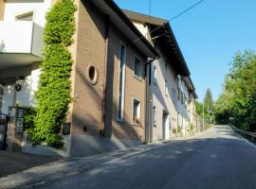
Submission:
[[[123,9],[123,12],[131,20],[150,26],[150,30],[152,32],[151,38],[155,39],[154,43],[159,43],[158,46],[164,52],[167,59],[171,60],[174,70],[178,75],[184,77],[189,77],[191,75],[168,20],[137,13],[127,9]]]

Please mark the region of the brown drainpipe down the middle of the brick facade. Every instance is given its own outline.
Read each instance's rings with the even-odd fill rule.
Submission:
[[[107,134],[106,122],[106,85],[107,85],[107,67],[108,67],[108,43],[109,43],[109,15],[106,15],[105,20],[105,63],[104,63],[104,77],[103,77],[103,97],[102,97],[102,117],[100,136],[104,137]]]

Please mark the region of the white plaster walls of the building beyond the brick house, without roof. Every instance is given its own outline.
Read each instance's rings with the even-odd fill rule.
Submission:
[[[141,23],[134,22],[134,25],[137,26],[138,30],[142,33],[142,35],[146,36],[149,40],[150,38],[147,36],[148,27],[143,26]],[[186,95],[187,99],[189,99],[189,92],[185,83],[180,80],[178,84],[178,80],[175,79],[174,69],[172,68],[172,62],[165,63],[165,57],[160,54],[160,59],[155,60],[152,66],[152,109],[155,106],[156,112],[156,124],[151,127],[153,131],[153,141],[162,140],[163,136],[163,112],[169,112],[169,120],[170,120],[170,138],[174,136],[173,129],[177,129],[177,126],[181,126],[183,129],[183,133],[186,133],[186,130],[189,127],[190,123],[190,113],[189,107],[185,107],[185,104],[182,104],[177,99],[178,95],[178,85],[182,89],[183,93]],[[157,80],[154,82],[154,66],[157,72]],[[168,94],[165,94],[165,79],[167,79],[167,88]],[[153,112],[153,111],[152,111]],[[152,116],[152,123],[154,117]]]

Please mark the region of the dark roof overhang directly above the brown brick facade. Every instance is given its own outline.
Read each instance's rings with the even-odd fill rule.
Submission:
[[[146,40],[113,0],[91,0],[91,2],[104,14],[109,15],[111,22],[116,25],[146,57],[156,58],[158,56],[154,46]]]

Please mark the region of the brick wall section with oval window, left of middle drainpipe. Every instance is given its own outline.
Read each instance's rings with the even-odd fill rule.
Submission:
[[[98,136],[102,124],[105,59],[104,25],[102,17],[91,11],[88,4],[80,2],[78,11],[73,127],[71,133]],[[99,79],[95,85],[92,85],[86,77],[86,69],[89,65],[95,66],[99,72]]]

